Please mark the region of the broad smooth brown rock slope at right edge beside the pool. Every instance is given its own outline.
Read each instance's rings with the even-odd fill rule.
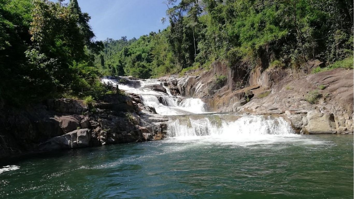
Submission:
[[[300,133],[353,133],[353,70],[335,69],[282,81],[269,96],[253,99],[239,110],[284,114]],[[320,90],[320,85],[325,89]],[[322,94],[318,104],[305,99],[313,90]]]

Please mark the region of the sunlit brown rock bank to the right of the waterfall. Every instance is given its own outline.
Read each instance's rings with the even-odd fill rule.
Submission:
[[[215,62],[209,71],[160,79],[177,81],[182,96],[201,98],[212,112],[279,114],[299,133],[353,133],[353,70],[307,74],[316,64],[321,63],[310,61],[302,71],[258,68],[246,75]],[[219,81],[220,76],[227,80]],[[306,97],[313,92],[311,104]]]

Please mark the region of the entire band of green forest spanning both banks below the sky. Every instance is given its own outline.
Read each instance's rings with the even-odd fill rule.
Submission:
[[[215,60],[249,71],[310,59],[353,67],[348,0],[167,0],[166,29],[103,42],[77,0],[63,2],[0,0],[1,106],[72,96],[102,75],[157,77]]]

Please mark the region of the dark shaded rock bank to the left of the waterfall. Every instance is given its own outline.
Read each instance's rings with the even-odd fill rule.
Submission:
[[[160,140],[167,119],[137,95],[109,95],[92,112],[79,100],[48,100],[26,110],[2,109],[0,157],[38,150]]]

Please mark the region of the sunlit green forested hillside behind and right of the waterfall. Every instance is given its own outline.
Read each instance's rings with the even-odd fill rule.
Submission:
[[[353,4],[348,0],[168,0],[170,26],[139,39],[107,39],[96,57],[104,74],[139,78],[209,67],[353,67]],[[342,62],[337,62],[344,59]],[[337,62],[337,63],[336,63]],[[323,69],[317,69],[320,71]]]

